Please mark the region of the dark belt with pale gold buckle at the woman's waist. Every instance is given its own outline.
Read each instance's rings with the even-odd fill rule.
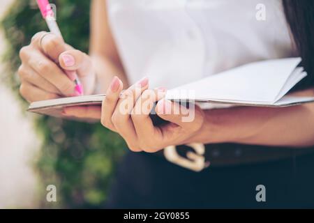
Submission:
[[[314,148],[285,148],[243,144],[190,144],[168,146],[156,153],[169,162],[193,171],[207,167],[254,164],[314,153]]]

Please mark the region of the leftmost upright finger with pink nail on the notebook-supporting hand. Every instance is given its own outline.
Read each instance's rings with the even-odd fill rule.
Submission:
[[[116,132],[116,128],[112,123],[112,114],[114,113],[114,109],[117,106],[117,102],[120,97],[120,93],[123,89],[123,84],[118,77],[114,77],[110,84],[110,87],[107,89],[106,97],[103,100],[102,105],[102,114],[101,114],[101,123],[105,128],[108,128],[114,132]]]

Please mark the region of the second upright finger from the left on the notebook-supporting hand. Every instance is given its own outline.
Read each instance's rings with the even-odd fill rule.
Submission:
[[[112,115],[112,123],[117,132],[126,140],[130,150],[140,151],[137,141],[137,135],[130,114],[133,111],[135,102],[143,91],[147,90],[149,79],[147,77],[131,86],[128,90],[121,94],[121,98],[117,104],[114,114]]]

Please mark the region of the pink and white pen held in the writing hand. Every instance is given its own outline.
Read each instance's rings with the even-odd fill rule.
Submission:
[[[41,15],[43,15],[43,18],[45,19],[47,26],[50,29],[50,32],[54,33],[57,36],[62,37],[61,31],[59,29],[59,26],[57,24],[56,18],[54,17],[54,11],[52,10],[52,7],[50,6],[50,3],[48,0],[37,0],[38,7],[40,9]],[[80,95],[83,94],[83,86],[80,83],[80,80],[77,77],[76,73],[73,72],[66,72],[69,76],[75,76],[74,82],[75,82],[75,91],[79,93]]]

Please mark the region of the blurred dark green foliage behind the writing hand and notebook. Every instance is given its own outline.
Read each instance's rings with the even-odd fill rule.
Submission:
[[[66,42],[84,52],[89,47],[90,1],[57,0],[57,21]],[[16,70],[20,49],[28,45],[38,31],[47,31],[36,1],[15,0],[1,22],[8,41],[4,55],[8,72],[1,75],[18,96]],[[21,99],[22,109],[27,103]],[[29,116],[29,114],[25,114]],[[65,121],[59,118],[35,118],[38,137],[43,137],[36,170],[41,178],[38,199],[43,208],[100,208],[117,162],[126,148],[123,140],[99,124]],[[47,185],[56,185],[58,202],[45,201]]]

